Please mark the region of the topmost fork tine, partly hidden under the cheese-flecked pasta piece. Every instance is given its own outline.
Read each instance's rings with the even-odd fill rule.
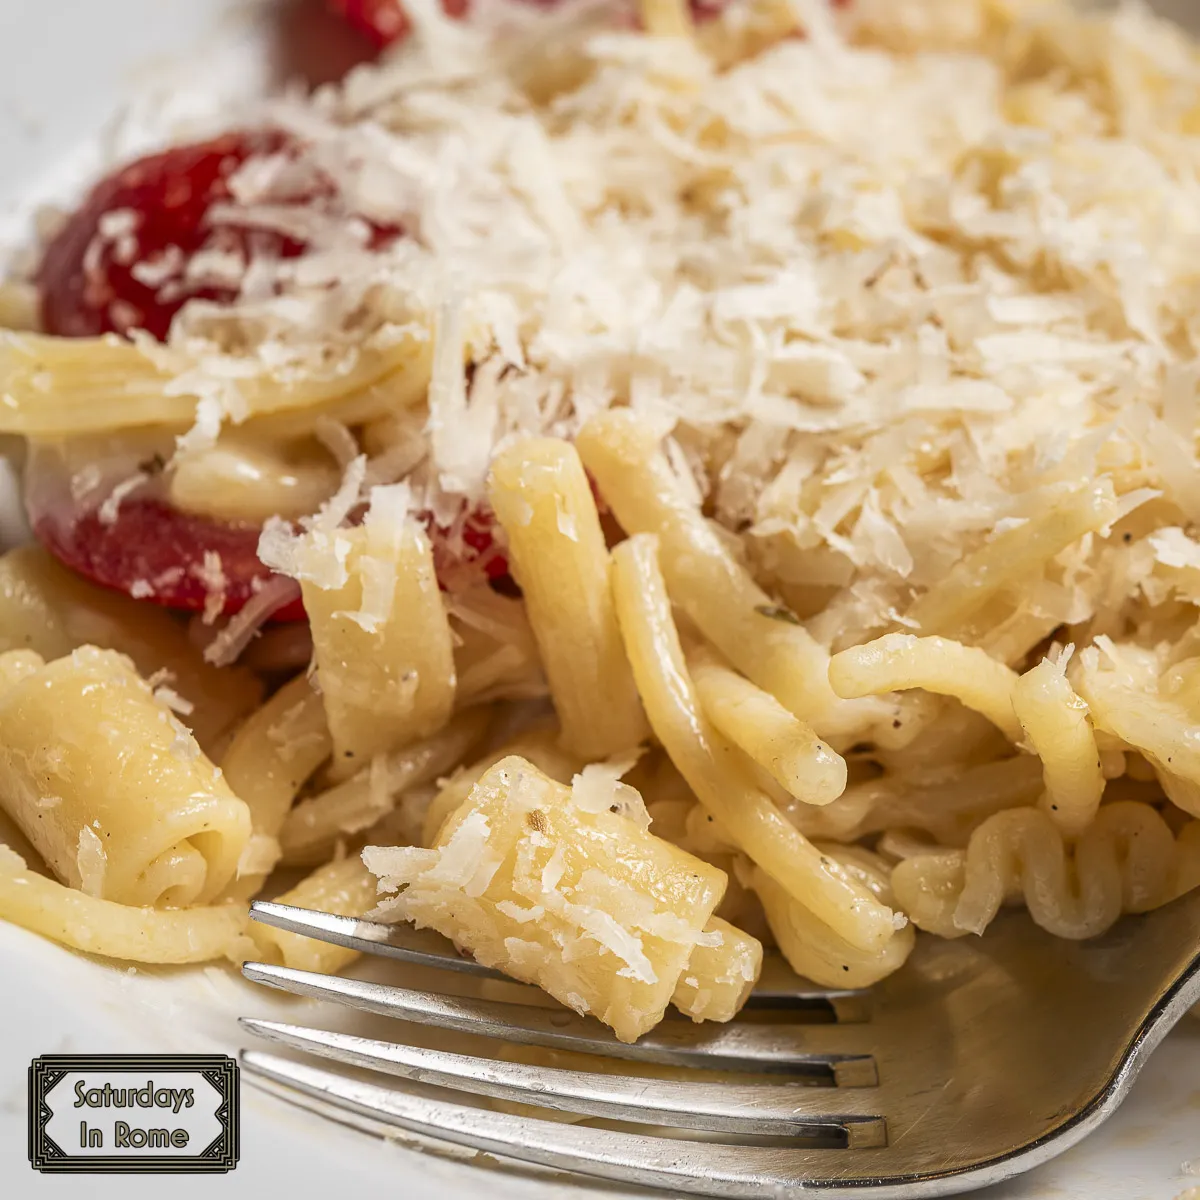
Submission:
[[[450,943],[440,937],[422,937],[408,925],[385,925],[377,920],[335,917],[332,913],[314,912],[311,908],[298,908],[294,905],[268,900],[256,900],[250,906],[250,916],[253,920],[274,925],[289,934],[302,934],[305,937],[314,937],[365,954],[400,959],[412,966],[457,971],[484,979],[502,979],[505,983],[516,982],[500,971],[485,967],[474,959],[463,958],[454,949],[439,948],[449,947]],[[776,972],[776,979],[772,982],[760,982],[748,1007],[786,1008],[797,1014],[823,1013],[833,1016],[839,1024],[865,1021],[869,1018],[870,994],[864,989],[812,988],[802,984],[791,972],[787,972],[790,978],[780,979],[778,974]]]

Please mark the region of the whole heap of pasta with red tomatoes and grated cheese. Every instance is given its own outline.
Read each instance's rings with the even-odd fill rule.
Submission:
[[[1196,886],[1194,49],[437,8],[0,288],[0,917],[415,920],[635,1038]]]

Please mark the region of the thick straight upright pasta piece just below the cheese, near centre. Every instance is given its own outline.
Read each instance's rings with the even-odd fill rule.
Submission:
[[[492,462],[488,497],[524,594],[563,744],[587,758],[636,746],[642,704],[617,628],[608,548],[569,442],[529,438]]]

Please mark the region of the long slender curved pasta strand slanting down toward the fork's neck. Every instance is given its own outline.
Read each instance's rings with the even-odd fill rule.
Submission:
[[[788,823],[751,782],[749,760],[701,712],[671,617],[655,539],[641,534],[622,542],[613,552],[613,566],[617,618],[647,716],[701,804],[745,854],[847,942],[862,949],[882,947],[895,929],[892,910]]]

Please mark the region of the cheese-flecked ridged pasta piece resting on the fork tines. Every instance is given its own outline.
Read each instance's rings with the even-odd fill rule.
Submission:
[[[722,938],[707,926],[725,875],[582,800],[504,758],[433,848],[368,846],[364,860],[400,890],[380,916],[437,929],[631,1042],[659,1022],[692,950]]]

